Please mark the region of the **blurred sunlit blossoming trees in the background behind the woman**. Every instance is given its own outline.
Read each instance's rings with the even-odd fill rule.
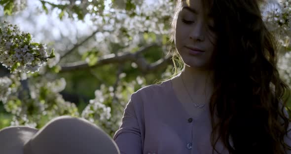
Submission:
[[[131,94],[173,75],[168,52],[173,49],[169,33],[174,1],[104,0],[103,11],[98,5],[86,5],[84,11],[74,6],[98,1],[15,0],[12,15],[4,15],[1,6],[0,21],[18,25],[33,41],[45,43],[48,52],[54,48],[55,58],[36,74],[11,76],[0,68],[0,85],[7,85],[2,91],[10,94],[0,103],[0,128],[40,128],[56,116],[71,115],[112,136]],[[281,77],[291,85],[291,8],[284,1],[269,0],[262,13],[281,45]],[[65,4],[70,4],[67,10],[57,8]],[[72,13],[74,9],[79,12]]]

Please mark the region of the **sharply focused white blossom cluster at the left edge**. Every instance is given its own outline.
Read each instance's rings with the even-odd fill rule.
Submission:
[[[16,25],[5,21],[0,23],[0,63],[12,73],[36,72],[46,59],[52,58],[48,57],[46,45],[33,44],[28,39],[29,35],[21,32]]]

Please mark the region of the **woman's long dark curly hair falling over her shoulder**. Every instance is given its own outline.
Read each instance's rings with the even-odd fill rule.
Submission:
[[[172,21],[172,41],[181,2]],[[211,143],[215,147],[220,139],[230,154],[285,154],[290,148],[284,142],[291,121],[286,111],[290,88],[279,76],[276,40],[262,20],[259,2],[202,0],[218,36],[212,59]],[[177,51],[174,56],[181,59]]]

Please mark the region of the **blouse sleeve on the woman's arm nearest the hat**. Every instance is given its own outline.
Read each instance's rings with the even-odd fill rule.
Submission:
[[[122,123],[115,132],[113,140],[117,144],[120,154],[142,154],[141,130],[137,120],[132,99],[124,109]]]

